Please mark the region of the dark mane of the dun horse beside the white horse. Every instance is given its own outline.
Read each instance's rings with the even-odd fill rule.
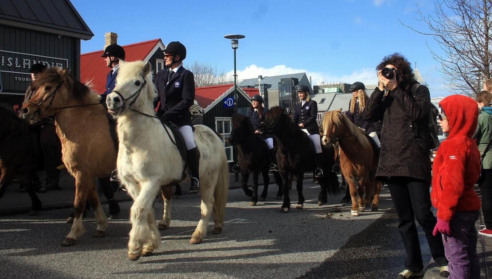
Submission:
[[[50,67],[36,78],[36,80],[32,83],[31,88],[33,91],[36,91],[38,88],[43,87],[48,83],[65,82],[76,100],[84,99],[89,92],[91,92],[91,88],[89,88],[89,86],[81,83],[71,74],[67,74],[64,77],[62,74],[63,72],[61,71],[61,68]]]

